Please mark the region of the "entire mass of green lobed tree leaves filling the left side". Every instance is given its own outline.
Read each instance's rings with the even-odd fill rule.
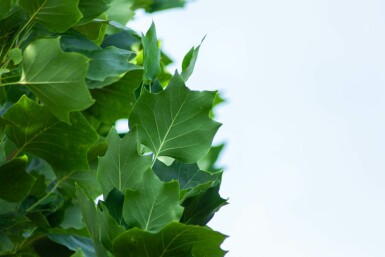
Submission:
[[[0,256],[225,255],[220,98],[186,86],[199,46],[171,74],[155,24],[125,26],[184,4],[0,1]]]

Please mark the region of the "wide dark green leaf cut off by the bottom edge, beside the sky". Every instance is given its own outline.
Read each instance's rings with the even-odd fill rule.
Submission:
[[[116,257],[223,257],[225,235],[206,227],[171,223],[158,233],[138,228],[119,235],[113,243]]]

